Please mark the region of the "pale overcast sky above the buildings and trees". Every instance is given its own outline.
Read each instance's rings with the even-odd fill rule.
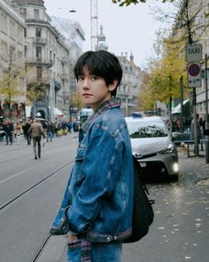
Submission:
[[[85,32],[83,51],[91,49],[90,0],[59,0],[53,3],[44,0],[44,4],[50,16],[77,20]],[[98,32],[102,25],[109,52],[115,55],[127,52],[128,57],[132,52],[135,65],[146,67],[148,58],[154,53],[156,32],[166,27],[151,12],[153,4],[161,9],[168,8],[160,0],[148,0],[146,4],[132,4],[128,7],[112,4],[112,0],[97,0]],[[69,12],[72,9],[76,12]]]

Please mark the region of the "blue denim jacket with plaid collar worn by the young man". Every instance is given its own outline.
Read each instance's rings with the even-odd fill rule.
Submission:
[[[58,215],[69,231],[90,242],[120,242],[132,232],[133,158],[118,99],[106,101],[84,124]],[[68,208],[69,207],[69,208]]]

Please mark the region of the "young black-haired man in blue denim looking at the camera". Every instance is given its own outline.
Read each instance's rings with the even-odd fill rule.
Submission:
[[[81,55],[74,75],[94,114],[81,128],[83,138],[50,233],[67,231],[68,262],[119,262],[121,243],[132,232],[134,187],[127,123],[120,99],[112,99],[122,69],[112,53],[90,51]]]

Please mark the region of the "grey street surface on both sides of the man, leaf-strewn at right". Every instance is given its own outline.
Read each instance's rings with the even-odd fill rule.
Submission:
[[[49,237],[77,143],[74,133],[55,138],[39,160],[26,141],[0,143],[1,262],[35,261]],[[154,222],[140,242],[124,245],[123,262],[208,261],[209,164],[204,157],[188,158],[181,149],[179,157],[178,182],[148,185],[155,199]]]

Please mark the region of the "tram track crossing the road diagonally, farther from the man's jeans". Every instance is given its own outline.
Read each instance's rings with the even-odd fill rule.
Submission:
[[[19,199],[19,197],[21,197],[22,195],[26,195],[30,190],[34,189],[35,187],[39,186],[40,184],[43,183],[43,181],[45,181],[46,179],[50,179],[50,177],[52,177],[53,175],[55,175],[56,173],[58,173],[58,171],[61,171],[63,169],[66,168],[66,166],[70,165],[71,163],[74,163],[73,161],[70,161],[68,163],[63,164],[62,166],[60,166],[56,171],[52,171],[50,172],[50,174],[47,174],[43,179],[38,180],[37,182],[35,182],[35,184],[33,184],[30,187],[27,187],[27,189],[23,190],[21,193],[19,193],[18,195],[14,196],[10,201],[8,202],[4,202],[4,204],[2,206],[0,206],[0,211],[4,210],[6,207],[8,207],[10,204],[12,204],[12,202],[15,202],[16,200]]]

